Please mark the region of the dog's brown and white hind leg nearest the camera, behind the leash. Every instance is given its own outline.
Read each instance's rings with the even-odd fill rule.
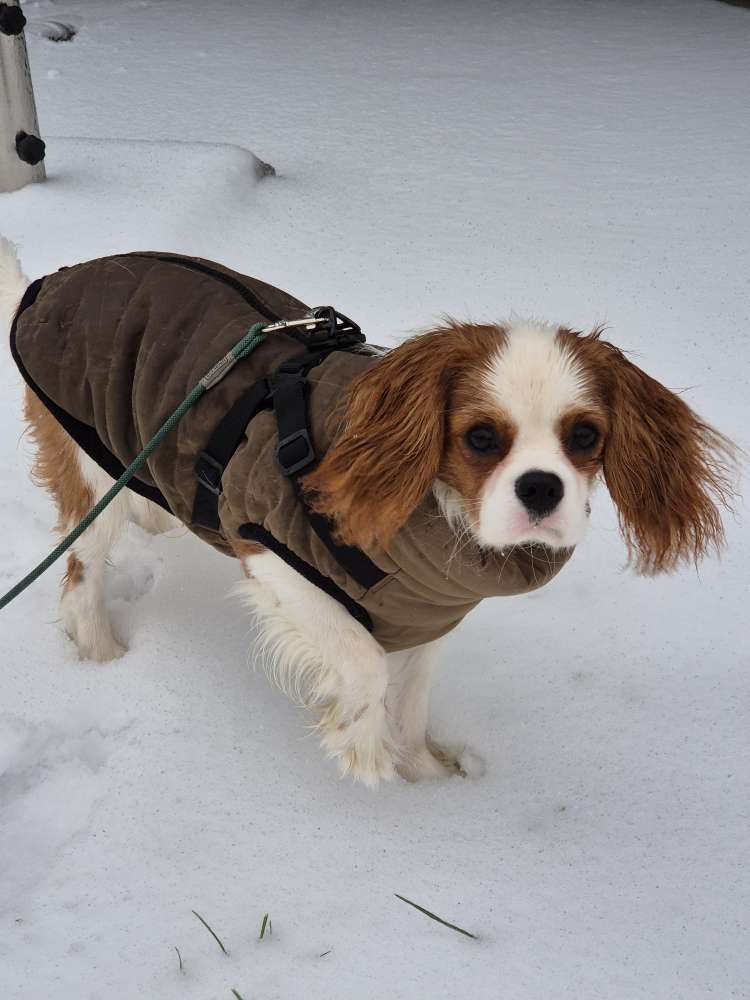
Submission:
[[[37,454],[32,478],[57,505],[56,530],[71,531],[112,485],[27,389],[25,416]],[[131,519],[129,498],[118,496],[75,542],[68,553],[60,609],[65,629],[82,659],[112,660],[124,647],[115,639],[104,601],[104,568],[112,546]]]

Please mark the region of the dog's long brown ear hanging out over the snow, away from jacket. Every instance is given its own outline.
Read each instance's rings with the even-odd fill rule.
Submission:
[[[611,420],[604,477],[639,573],[669,572],[720,550],[736,449],[611,344]]]

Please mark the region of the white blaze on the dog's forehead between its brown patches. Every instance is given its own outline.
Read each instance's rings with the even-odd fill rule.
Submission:
[[[557,341],[557,329],[533,321],[508,324],[506,342],[485,371],[486,389],[521,434],[554,426],[588,397],[586,374]]]

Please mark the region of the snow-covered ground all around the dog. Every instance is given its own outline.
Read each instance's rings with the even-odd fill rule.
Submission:
[[[26,13],[78,28],[29,38],[49,182],[0,196],[0,232],[31,276],[194,252],[389,343],[443,311],[606,319],[750,444],[747,11]],[[236,147],[278,176],[256,182]],[[0,388],[5,589],[53,514],[7,358]],[[750,547],[742,516],[729,531],[700,576],[637,580],[601,494],[554,584],[487,603],[447,644],[434,730],[485,775],[376,793],[339,782],[250,669],[231,561],[134,532],[110,581],[130,653],[103,667],[77,662],[50,573],[0,632],[0,997],[750,997]]]

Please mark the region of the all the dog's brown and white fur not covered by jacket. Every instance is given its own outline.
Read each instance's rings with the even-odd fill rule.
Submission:
[[[0,241],[0,320],[25,281]],[[27,392],[35,480],[68,532],[111,485]],[[388,352],[354,384],[334,446],[307,477],[342,540],[383,544],[434,491],[457,539],[487,549],[552,549],[584,537],[603,478],[636,571],[669,572],[723,543],[732,447],[600,331],[539,322],[448,321]],[[129,522],[176,522],[124,491],[76,542],[62,587],[65,628],[82,657],[122,655],[102,596],[108,554]],[[243,599],[281,686],[317,706],[342,772],[368,785],[460,771],[427,735],[436,643],[386,655],[333,599],[272,552],[240,543]]]

